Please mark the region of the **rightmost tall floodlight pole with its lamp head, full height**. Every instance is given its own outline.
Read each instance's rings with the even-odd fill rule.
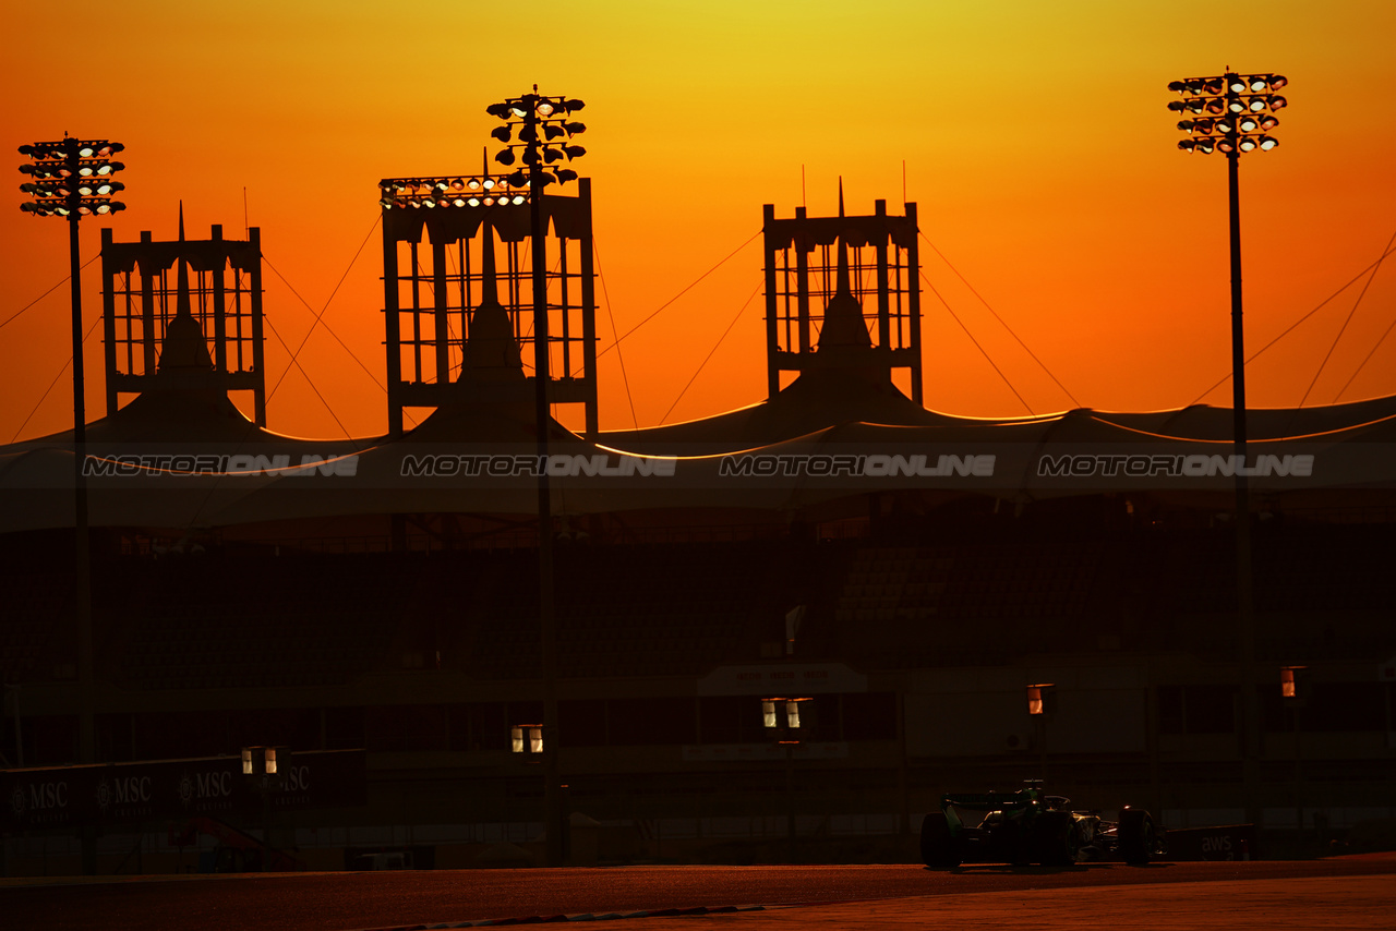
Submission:
[[[1268,152],[1280,142],[1269,133],[1280,124],[1276,113],[1287,100],[1276,94],[1289,84],[1279,74],[1234,74],[1173,81],[1168,89],[1181,99],[1168,103],[1185,114],[1178,128],[1184,152],[1227,159],[1227,204],[1231,246],[1231,412],[1235,442],[1235,586],[1237,627],[1241,641],[1242,783],[1247,821],[1258,824],[1261,805],[1259,751],[1261,706],[1255,681],[1255,599],[1251,574],[1251,504],[1245,470],[1245,339],[1241,322],[1241,195],[1238,163],[1244,152]]]

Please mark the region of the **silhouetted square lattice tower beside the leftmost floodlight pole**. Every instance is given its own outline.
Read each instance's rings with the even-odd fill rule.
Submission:
[[[173,275],[172,275],[173,272]],[[173,281],[172,281],[173,279]],[[102,334],[106,413],[123,394],[251,391],[253,420],[267,426],[262,357],[261,230],[247,240],[117,243],[102,230]]]

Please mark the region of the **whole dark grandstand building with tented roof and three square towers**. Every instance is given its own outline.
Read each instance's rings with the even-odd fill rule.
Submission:
[[[591,236],[584,190],[553,226],[572,247]],[[74,837],[94,825],[102,870],[131,868],[133,844],[147,870],[187,865],[159,805],[80,815],[35,789],[34,773],[82,762],[89,709],[101,772],[246,747],[366,750],[363,804],[341,793],[219,814],[299,847],[306,865],[384,849],[436,865],[536,858],[540,770],[514,733],[543,716],[539,469],[553,483],[553,737],[572,863],[913,856],[942,791],[1039,776],[1078,804],[1142,804],[1170,826],[1255,812],[1272,849],[1389,817],[1396,398],[1252,412],[1242,463],[1230,412],[1206,406],[937,413],[919,394],[914,205],[793,219],[768,207],[769,396],[595,430],[584,248],[549,288],[556,313],[578,314],[557,389],[589,405],[589,429],[543,424],[539,463],[514,248],[526,209],[392,214],[391,422],[434,410],[334,444],[271,433],[228,398],[257,389],[232,359],[255,357],[261,377],[260,296],[242,283],[258,281],[255,239],[103,241],[103,265],[127,275],[107,276],[107,332],[134,329],[113,345],[138,362],[109,364],[121,377],[109,391],[140,394],[87,434],[91,706],[66,558],[71,437],[0,448],[7,870],[77,871]],[[149,269],[176,262],[173,293],[156,293],[166,272]],[[191,285],[187,265],[209,283]],[[128,283],[135,267],[149,285]],[[233,314],[235,334],[258,334],[251,346],[229,336],[225,268],[258,321]],[[914,373],[913,396],[895,368]],[[1254,470],[1249,671],[1237,468]],[[1291,701],[1280,677],[1297,667]],[[1026,687],[1047,683],[1050,713],[1029,715]],[[1245,687],[1263,719],[1255,784]],[[771,699],[804,699],[799,731],[768,727]]]

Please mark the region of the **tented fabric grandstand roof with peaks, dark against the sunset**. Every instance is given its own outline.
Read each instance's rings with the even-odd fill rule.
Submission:
[[[1224,408],[1078,409],[970,420],[921,410],[874,384],[852,388],[859,384],[824,371],[801,377],[764,405],[671,429],[604,434],[596,444],[554,422],[549,441],[554,509],[794,511],[895,490],[1016,501],[1101,491],[1206,491],[1224,501],[1234,482],[1231,412]],[[870,410],[891,416],[881,423],[859,416]],[[98,470],[89,479],[91,521],[98,526],[207,528],[332,515],[533,514],[536,470],[529,463],[536,462],[537,445],[529,413],[445,408],[398,441],[311,441],[257,429],[222,396],[151,392],[88,429],[89,455],[128,466],[106,475]],[[787,429],[776,430],[780,424]],[[1385,444],[1396,442],[1396,398],[1254,410],[1248,424],[1248,462],[1273,456],[1269,472],[1251,484],[1272,500],[1343,489],[1393,497],[1396,456],[1386,455]],[[769,438],[796,427],[814,429]],[[151,459],[170,455],[184,458]],[[190,456],[212,456],[214,465]],[[631,456],[628,466],[625,456]],[[1097,466],[1071,472],[1061,465],[1064,456]],[[1177,462],[1191,456],[1210,472],[1160,475],[1161,466],[1149,466],[1153,459],[1139,459],[1141,469],[1154,472],[1127,475],[1129,456]],[[1295,468],[1295,456],[1312,456],[1311,465]],[[71,462],[70,434],[0,448],[6,498],[0,529],[71,526]],[[524,465],[510,470],[511,462]],[[491,473],[490,463],[505,466]]]

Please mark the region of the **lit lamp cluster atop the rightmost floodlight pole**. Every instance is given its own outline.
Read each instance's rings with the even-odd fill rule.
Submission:
[[[1191,137],[1180,140],[1178,148],[1203,155],[1269,152],[1280,144],[1269,135],[1280,124],[1276,112],[1289,105],[1275,91],[1287,84],[1289,80],[1280,74],[1224,74],[1173,81],[1168,89],[1181,99],[1171,100],[1168,109],[1187,114],[1188,119],[1178,121],[1178,128]]]

